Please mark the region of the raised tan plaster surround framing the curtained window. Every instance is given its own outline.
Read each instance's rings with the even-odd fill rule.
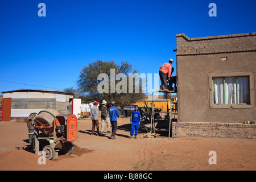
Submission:
[[[249,77],[250,104],[214,104],[213,99],[213,78],[222,77]],[[254,76],[253,72],[213,72],[209,73],[209,106],[212,109],[246,109],[254,107]]]

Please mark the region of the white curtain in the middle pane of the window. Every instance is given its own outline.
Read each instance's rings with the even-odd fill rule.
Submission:
[[[237,84],[235,77],[225,77],[224,104],[237,104]]]

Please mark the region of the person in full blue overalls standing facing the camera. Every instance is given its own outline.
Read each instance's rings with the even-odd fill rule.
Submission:
[[[139,112],[139,106],[136,105],[135,106],[135,110],[133,111],[133,113],[131,113],[131,137],[129,137],[130,139],[133,138],[133,135],[135,138],[137,138],[137,134],[139,131],[139,124],[141,123],[141,113]],[[135,130],[135,134],[134,134],[134,130]]]

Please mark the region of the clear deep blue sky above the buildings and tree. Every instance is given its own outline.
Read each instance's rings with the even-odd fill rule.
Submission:
[[[38,16],[41,2],[46,17]],[[217,17],[208,15],[212,2]],[[255,0],[1,0],[0,92],[76,87],[81,69],[97,59],[158,73],[170,58],[176,68],[176,34],[256,32],[255,22]]]

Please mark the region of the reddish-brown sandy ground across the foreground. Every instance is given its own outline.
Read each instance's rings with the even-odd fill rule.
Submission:
[[[73,153],[39,165],[39,155],[15,149],[28,146],[26,123],[0,122],[0,170],[256,170],[255,139],[168,138],[164,134],[129,139],[129,123],[119,118],[117,139],[111,140],[107,133],[91,136],[92,121],[83,119]],[[210,151],[216,151],[216,165],[208,163]]]

